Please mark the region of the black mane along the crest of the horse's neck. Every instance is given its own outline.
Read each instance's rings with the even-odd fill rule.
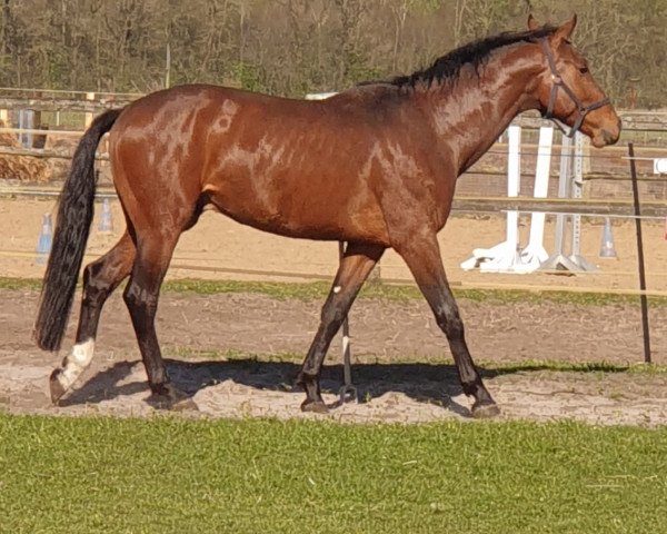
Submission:
[[[414,88],[419,82],[429,87],[434,82],[454,82],[459,78],[464,66],[471,65],[477,71],[488,60],[494,50],[521,41],[535,42],[537,39],[550,36],[554,31],[556,31],[556,27],[545,26],[537,30],[505,32],[479,39],[438,58],[428,69],[419,70],[409,76],[399,76],[387,82],[401,88]]]

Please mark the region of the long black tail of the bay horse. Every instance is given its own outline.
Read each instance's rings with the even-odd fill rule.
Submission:
[[[53,245],[34,323],[34,339],[44,350],[58,350],[64,335],[92,222],[94,152],[120,112],[120,109],[106,111],[83,134],[60,194]]]

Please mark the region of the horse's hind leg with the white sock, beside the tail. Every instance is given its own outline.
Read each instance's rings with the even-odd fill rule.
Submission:
[[[130,274],[136,248],[126,233],[104,256],[83,269],[83,296],[74,346],[61,367],[51,373],[51,400],[56,404],[92,362],[102,307],[109,295]]]

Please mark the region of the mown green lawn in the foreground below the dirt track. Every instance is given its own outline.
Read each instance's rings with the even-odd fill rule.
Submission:
[[[665,473],[665,428],[0,415],[0,532],[663,532]]]

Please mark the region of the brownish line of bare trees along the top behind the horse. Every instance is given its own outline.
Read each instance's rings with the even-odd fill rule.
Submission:
[[[0,0],[0,85],[300,97],[410,73],[469,40],[558,23],[619,107],[667,106],[667,0]]]

